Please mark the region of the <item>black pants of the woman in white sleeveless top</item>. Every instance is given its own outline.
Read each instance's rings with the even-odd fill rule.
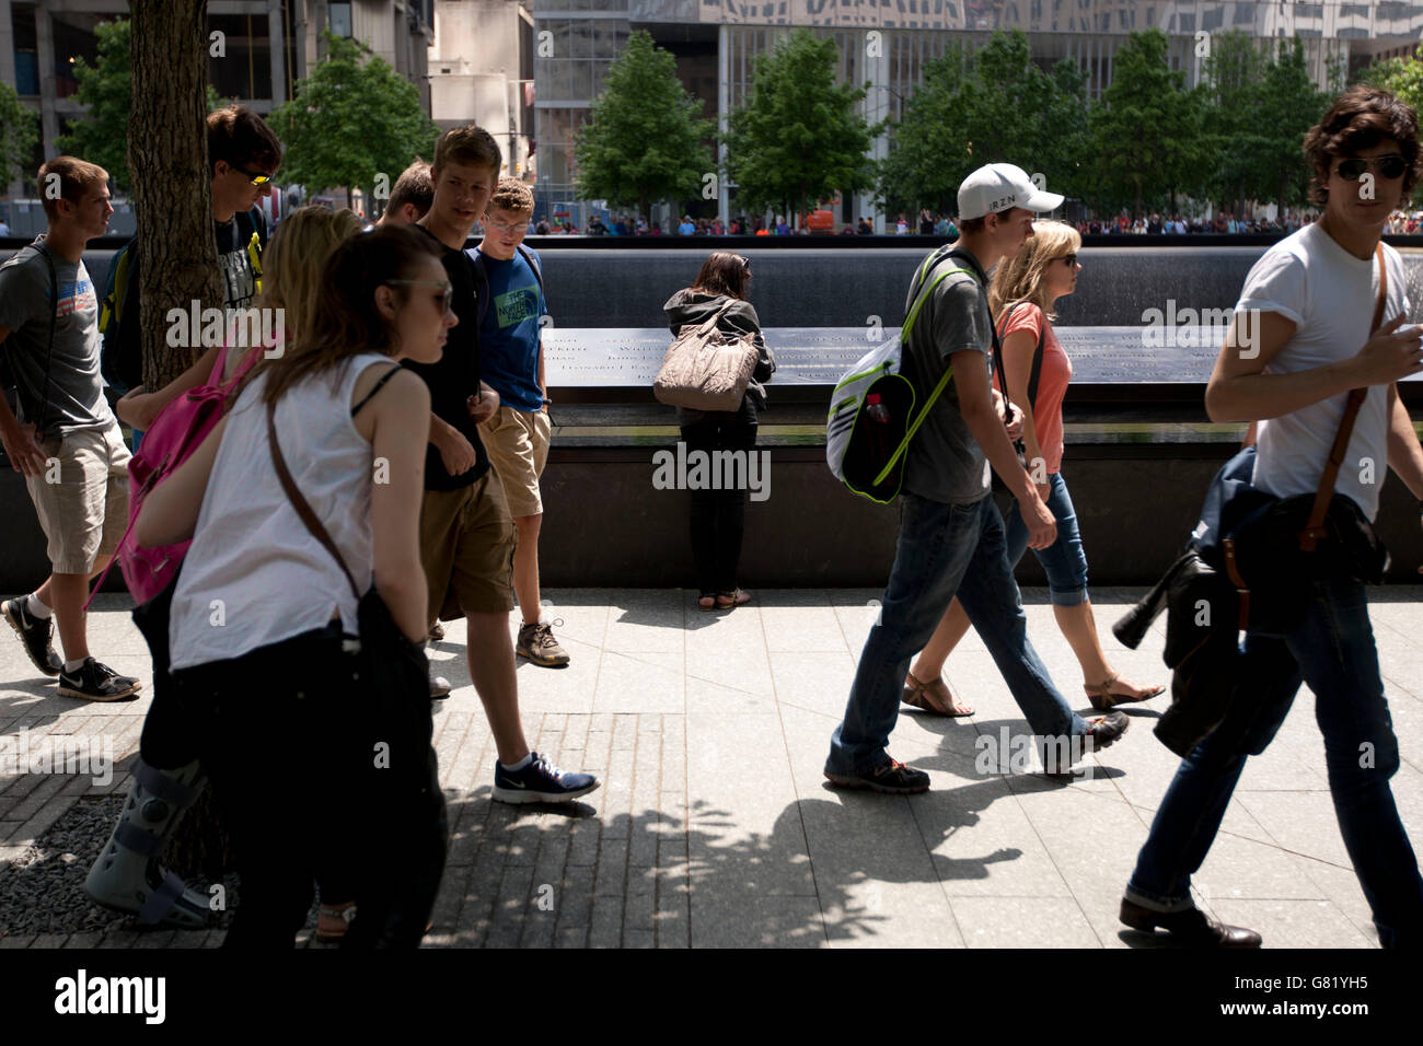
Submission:
[[[195,739],[232,835],[240,899],[226,948],[290,948],[322,878],[349,901],[364,823],[360,781],[370,763],[343,704],[353,657],[332,629],[242,657],[174,673],[175,703]]]

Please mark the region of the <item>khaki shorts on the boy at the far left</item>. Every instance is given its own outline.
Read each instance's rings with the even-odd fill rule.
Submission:
[[[118,548],[128,527],[128,460],[118,423],[46,440],[40,475],[24,485],[40,515],[46,554],[55,574],[94,572]]]

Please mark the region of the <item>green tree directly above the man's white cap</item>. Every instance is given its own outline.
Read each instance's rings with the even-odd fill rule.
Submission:
[[[1086,188],[1086,74],[1063,60],[1044,73],[1022,30],[995,33],[969,56],[951,44],[926,63],[884,164],[881,196],[892,211],[952,209],[959,182],[983,164],[1040,172],[1047,188]]]

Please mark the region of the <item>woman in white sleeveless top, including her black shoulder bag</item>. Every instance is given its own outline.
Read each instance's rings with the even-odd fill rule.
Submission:
[[[350,871],[351,945],[414,946],[434,905],[430,393],[398,360],[440,359],[451,295],[420,233],[340,243],[296,350],[260,364],[139,514],[141,546],[192,538],[149,642],[171,650],[172,702],[232,833],[242,898],[225,946],[290,948],[319,868]]]

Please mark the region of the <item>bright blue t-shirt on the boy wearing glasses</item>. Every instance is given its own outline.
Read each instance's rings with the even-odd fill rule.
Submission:
[[[538,255],[528,250],[535,260]],[[542,410],[538,384],[539,317],[548,302],[534,268],[519,250],[501,260],[478,248],[470,250],[490,278],[490,306],[480,324],[480,377],[499,394],[505,407],[525,413]]]

